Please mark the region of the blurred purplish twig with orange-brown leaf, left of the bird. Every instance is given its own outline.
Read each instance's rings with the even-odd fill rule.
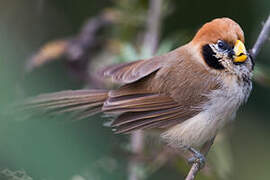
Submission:
[[[40,0],[40,3],[43,2]],[[102,49],[106,37],[101,30],[114,22],[106,16],[105,12],[89,18],[82,26],[80,32],[72,37],[54,40],[46,43],[27,62],[26,71],[40,67],[50,61],[65,57],[69,73],[86,85],[99,88],[103,86],[95,76],[89,76],[89,61]]]

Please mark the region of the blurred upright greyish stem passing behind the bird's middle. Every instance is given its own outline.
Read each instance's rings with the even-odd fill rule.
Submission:
[[[161,6],[162,0],[150,0],[146,32],[142,47],[150,49],[152,55],[155,53],[159,41]],[[135,155],[142,154],[144,147],[143,132],[139,130],[132,133],[130,141],[133,153]],[[137,172],[138,166],[139,162],[137,158],[131,158],[129,163],[129,180],[141,179]]]

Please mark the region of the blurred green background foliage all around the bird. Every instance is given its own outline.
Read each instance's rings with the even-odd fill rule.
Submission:
[[[113,25],[102,31],[103,46],[87,61],[89,74],[106,64],[149,57],[147,49],[141,49],[148,10],[146,0],[1,2],[2,111],[11,102],[27,96],[94,86],[93,81],[90,84],[78,81],[71,73],[70,64],[61,56],[65,43],[53,43],[75,37],[84,22],[96,15],[106,16]],[[269,7],[268,0],[228,0],[222,6],[214,0],[164,0],[157,54],[188,42],[203,23],[222,16],[240,23],[248,47],[251,47],[262,21],[269,15]],[[248,104],[238,114],[233,131],[218,137],[209,154],[209,167],[198,179],[260,180],[270,177],[269,48],[270,43],[264,46],[256,60],[254,79],[258,83],[254,84]],[[41,55],[39,63],[44,59],[57,61],[26,73],[25,65],[33,54]],[[6,170],[0,173],[0,179],[15,180],[16,176],[23,180],[127,179],[128,136],[113,135],[110,128],[101,126],[106,118],[95,116],[79,122],[66,119],[65,116],[57,120],[33,117],[16,121],[1,113],[0,168]],[[149,159],[140,166],[138,173],[145,179],[183,179],[189,166],[180,155],[164,154],[162,145],[149,137],[145,148],[145,156]],[[20,169],[24,171],[18,171]]]

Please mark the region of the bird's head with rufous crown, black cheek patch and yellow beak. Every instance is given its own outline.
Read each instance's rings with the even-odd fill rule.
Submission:
[[[203,25],[191,43],[212,69],[238,73],[252,71],[254,63],[244,45],[242,28],[229,18],[218,18]]]

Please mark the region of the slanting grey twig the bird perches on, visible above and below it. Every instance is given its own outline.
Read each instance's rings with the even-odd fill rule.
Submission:
[[[266,20],[266,22],[265,22],[265,24],[260,32],[260,35],[257,38],[256,43],[254,44],[253,48],[249,51],[253,61],[255,60],[257,55],[259,54],[262,46],[268,40],[269,34],[270,34],[270,16],[268,16],[268,19]],[[210,148],[213,144],[213,141],[214,140],[212,140],[211,144],[206,146],[205,149],[203,150],[205,155],[210,150]],[[198,162],[193,163],[193,165],[192,165],[191,169],[189,170],[189,173],[186,177],[186,180],[194,180],[199,171],[200,171],[199,163]]]

